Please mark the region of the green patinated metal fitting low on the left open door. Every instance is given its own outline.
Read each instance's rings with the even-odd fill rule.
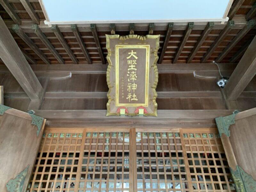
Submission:
[[[21,192],[22,191],[24,181],[26,179],[27,172],[28,172],[28,167],[29,167],[29,165],[22,172],[20,172],[18,175],[16,175],[16,177],[14,179],[10,179],[8,181],[8,183],[6,183],[6,188],[7,188],[8,192]]]

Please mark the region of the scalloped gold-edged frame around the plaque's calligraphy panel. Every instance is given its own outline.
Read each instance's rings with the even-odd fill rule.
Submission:
[[[139,115],[138,108],[144,109],[144,116],[157,116],[158,70],[156,63],[159,38],[160,35],[106,35],[106,48],[108,50],[107,84],[109,88],[107,116],[120,116],[120,108],[125,109],[127,116]],[[146,48],[145,103],[119,103],[119,59],[117,51],[120,48]]]

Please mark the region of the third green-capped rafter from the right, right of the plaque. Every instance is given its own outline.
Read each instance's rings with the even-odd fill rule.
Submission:
[[[201,34],[201,36],[199,37],[199,39],[197,40],[193,50],[191,51],[190,55],[188,56],[188,63],[191,63],[191,61],[194,59],[197,51],[200,49],[200,47],[202,46],[202,44],[204,43],[205,39],[207,38],[207,36],[209,35],[209,33],[212,31],[212,28],[214,27],[214,22],[209,22],[203,33]]]

